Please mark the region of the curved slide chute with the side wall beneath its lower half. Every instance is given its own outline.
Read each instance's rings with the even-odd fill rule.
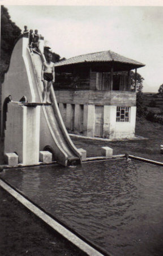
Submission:
[[[36,99],[38,102],[42,102],[42,90],[44,88],[44,85],[41,81],[41,68],[42,61],[45,60],[45,56],[43,54],[40,55],[35,52],[31,53],[29,49],[28,54],[31,57],[29,69],[31,73],[34,73],[33,79],[35,79],[35,81],[33,81],[33,85],[36,86],[38,92]],[[63,164],[64,166],[70,164],[79,164],[81,162],[81,155],[75,145],[72,143],[67,133],[66,127],[61,117],[61,113],[58,109],[53,86],[51,86],[50,88],[50,100],[52,102],[52,105],[41,107],[41,126],[45,126],[46,128],[48,126],[48,130],[50,131],[49,135],[52,139],[52,141],[48,143],[48,145],[46,144],[46,147],[44,142],[44,149],[47,148],[48,150],[51,150],[53,152],[54,159],[57,160],[58,163]],[[41,135],[44,135],[44,131],[41,132]]]

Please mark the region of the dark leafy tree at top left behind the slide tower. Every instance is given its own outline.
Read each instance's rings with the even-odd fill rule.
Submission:
[[[10,64],[10,57],[14,42],[21,34],[21,30],[12,20],[8,14],[5,6],[1,6],[1,82],[4,80],[5,72],[7,72]]]

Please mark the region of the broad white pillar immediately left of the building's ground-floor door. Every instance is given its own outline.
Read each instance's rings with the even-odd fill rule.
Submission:
[[[84,105],[83,134],[88,137],[94,137],[95,105]]]

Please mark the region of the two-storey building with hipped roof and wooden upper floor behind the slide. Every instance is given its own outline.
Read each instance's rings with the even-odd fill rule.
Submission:
[[[136,78],[144,67],[112,51],[89,53],[55,63],[55,96],[68,131],[87,137],[133,138]]]

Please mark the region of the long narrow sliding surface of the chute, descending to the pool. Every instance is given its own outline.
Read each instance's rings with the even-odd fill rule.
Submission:
[[[31,55],[31,58],[33,68],[35,69],[39,100],[40,102],[42,102],[42,90],[44,87],[43,82],[41,81],[42,57],[37,53],[34,53],[33,55]],[[58,109],[58,104],[55,98],[53,86],[51,86],[50,89],[50,100],[52,102],[52,105],[42,107],[44,108],[44,115],[46,116],[48,126],[50,127],[50,132],[52,133],[53,138],[58,147],[62,149],[62,151],[64,151],[65,154],[63,154],[63,157],[68,156],[68,163],[75,163],[74,161],[76,161],[76,163],[81,163],[81,155],[72,143],[67,133],[66,127],[63,123],[61,114]],[[61,163],[62,159],[59,162]]]

